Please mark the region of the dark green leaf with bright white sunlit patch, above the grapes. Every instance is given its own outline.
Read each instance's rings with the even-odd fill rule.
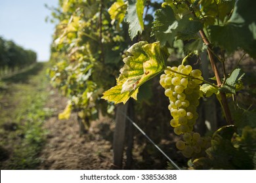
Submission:
[[[152,34],[164,45],[166,42],[173,44],[175,37],[182,40],[190,40],[198,38],[198,31],[203,25],[198,20],[193,20],[190,16],[183,16],[181,20],[176,20],[173,9],[165,6],[161,10],[156,11],[156,20]]]

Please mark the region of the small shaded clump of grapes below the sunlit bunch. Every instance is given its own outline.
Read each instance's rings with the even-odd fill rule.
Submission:
[[[211,146],[211,137],[201,137],[199,133],[183,134],[183,141],[177,141],[176,147],[184,157],[202,157],[205,149]]]

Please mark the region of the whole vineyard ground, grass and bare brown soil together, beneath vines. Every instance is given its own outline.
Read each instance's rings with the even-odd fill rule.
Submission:
[[[1,81],[0,168],[113,169],[114,120],[101,116],[80,137],[75,113],[69,120],[58,120],[67,99],[50,86],[46,68],[47,63],[38,63]],[[155,131],[150,133],[154,137]],[[167,159],[136,129],[134,142],[131,169],[167,168]],[[173,141],[157,143],[168,156],[184,163],[179,154],[173,157]]]

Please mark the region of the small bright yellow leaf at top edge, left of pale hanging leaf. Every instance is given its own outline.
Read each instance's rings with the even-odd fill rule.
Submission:
[[[110,18],[112,20],[112,24],[114,21],[117,21],[118,24],[123,22],[125,18],[125,11],[127,9],[127,5],[123,2],[123,0],[117,0],[109,9],[108,13],[110,14]]]

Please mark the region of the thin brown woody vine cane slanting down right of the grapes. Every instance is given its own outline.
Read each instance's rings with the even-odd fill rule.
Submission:
[[[191,13],[193,14],[193,16],[197,17],[196,16],[196,13],[194,11],[194,8],[193,8],[193,5],[190,4],[189,1],[187,0],[184,0],[184,3],[186,3],[186,5],[188,6],[188,8],[190,9]],[[223,82],[221,81],[221,77],[219,75],[219,71],[217,69],[217,65],[215,63],[215,59],[214,59],[214,54],[211,52],[211,42],[209,41],[209,39],[206,37],[205,35],[205,32],[203,31],[203,29],[201,29],[199,31],[202,39],[203,39],[203,42],[206,44],[207,46],[207,53],[208,53],[208,56],[209,56],[209,60],[210,60],[210,63],[211,63],[211,68],[213,69],[213,73],[215,75],[215,78],[217,80],[217,86],[219,88],[221,88]],[[221,95],[221,106],[223,107],[223,110],[224,110],[224,116],[226,118],[226,122],[231,125],[233,124],[232,122],[232,117],[231,117],[231,112],[230,112],[230,108],[228,107],[228,100],[226,99],[226,93],[223,93],[223,92],[220,92],[220,95]]]

